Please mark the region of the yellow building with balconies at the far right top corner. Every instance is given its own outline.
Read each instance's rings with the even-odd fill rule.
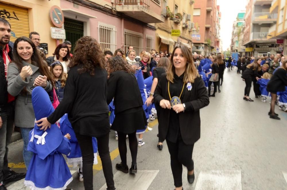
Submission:
[[[271,3],[270,14],[279,15],[276,23],[269,28],[267,39],[276,40],[277,52],[287,55],[287,1],[274,0]]]

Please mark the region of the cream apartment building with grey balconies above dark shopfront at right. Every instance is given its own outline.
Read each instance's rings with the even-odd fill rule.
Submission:
[[[243,45],[245,55],[263,56],[276,53],[276,40],[267,39],[269,28],[277,21],[270,13],[271,0],[247,0]]]

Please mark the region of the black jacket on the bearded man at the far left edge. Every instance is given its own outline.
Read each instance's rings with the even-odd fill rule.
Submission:
[[[13,60],[12,55],[12,48],[9,46],[9,53],[8,56]],[[4,65],[4,59],[3,59],[3,48],[0,46],[0,106],[5,105],[7,103],[8,99],[8,92],[7,92],[7,80],[5,77],[5,65]]]

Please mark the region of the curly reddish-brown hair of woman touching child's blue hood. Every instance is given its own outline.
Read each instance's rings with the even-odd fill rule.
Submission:
[[[104,69],[104,53],[93,37],[81,37],[76,43],[74,55],[68,67],[71,68],[80,64],[82,65],[82,68],[78,69],[80,74],[90,72],[90,75],[94,75],[95,67]]]

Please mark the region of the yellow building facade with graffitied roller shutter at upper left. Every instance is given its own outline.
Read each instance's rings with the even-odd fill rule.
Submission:
[[[40,34],[40,43],[48,44],[48,55],[52,55],[57,47],[56,39],[51,38],[51,27],[55,27],[50,19],[53,5],[60,7],[60,0],[0,0],[1,17],[11,24],[11,41],[18,37],[29,37],[36,31]]]

